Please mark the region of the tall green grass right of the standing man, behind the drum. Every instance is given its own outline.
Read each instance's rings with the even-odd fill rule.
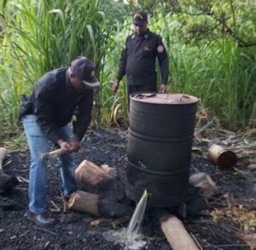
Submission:
[[[167,18],[155,18],[152,29],[162,35],[168,49],[169,91],[200,97],[230,130],[246,128],[248,119],[255,116],[256,48],[238,47],[229,38],[201,46],[183,44],[177,37],[181,24],[172,16]]]

